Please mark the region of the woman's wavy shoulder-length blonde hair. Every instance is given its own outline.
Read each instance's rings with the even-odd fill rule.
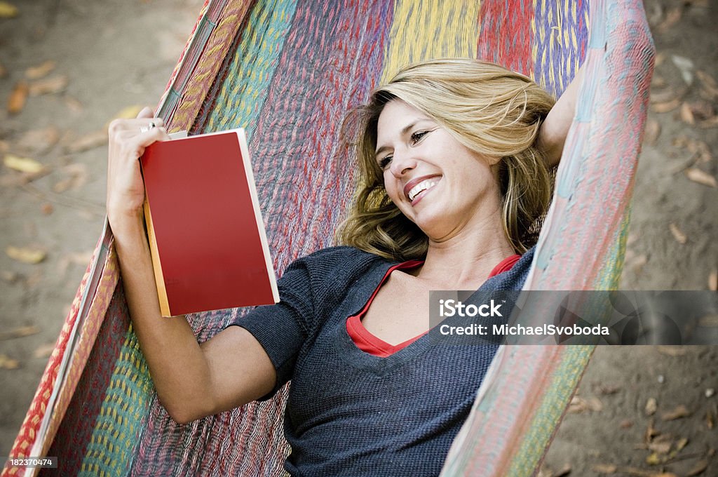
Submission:
[[[437,121],[468,149],[501,157],[497,167],[506,238],[519,254],[536,244],[551,201],[551,177],[536,136],[554,98],[526,76],[461,59],[404,68],[345,118],[342,136],[358,159],[360,186],[337,241],[391,260],[426,255],[428,238],[388,198],[376,162],[379,115],[396,99]]]

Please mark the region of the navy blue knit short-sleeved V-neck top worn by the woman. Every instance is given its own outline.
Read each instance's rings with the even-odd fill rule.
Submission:
[[[533,249],[480,291],[521,290]],[[386,358],[347,333],[376,291],[387,261],[334,247],[294,261],[278,280],[281,301],[233,325],[261,343],[276,370],[269,399],[290,379],[284,433],[293,476],[436,476],[469,415],[493,343],[445,344],[427,333]]]

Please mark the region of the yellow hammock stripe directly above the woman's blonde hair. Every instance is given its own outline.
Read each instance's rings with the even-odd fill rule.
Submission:
[[[381,84],[421,60],[475,58],[479,10],[480,1],[395,0]]]

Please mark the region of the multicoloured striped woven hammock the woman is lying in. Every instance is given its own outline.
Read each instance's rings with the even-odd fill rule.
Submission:
[[[580,0],[212,0],[159,116],[171,131],[247,129],[275,267],[283,270],[331,244],[353,194],[356,172],[337,149],[345,111],[402,65],[430,57],[498,62],[556,95],[585,58],[526,288],[615,288],[653,70],[640,0],[595,0],[590,12]],[[188,319],[205,341],[242,312]],[[531,475],[591,353],[589,346],[501,347],[444,474]],[[58,456],[60,475],[281,475],[285,400],[286,388],[269,402],[173,422],[132,332],[106,227],[11,455]],[[2,475],[21,474],[6,465]]]

